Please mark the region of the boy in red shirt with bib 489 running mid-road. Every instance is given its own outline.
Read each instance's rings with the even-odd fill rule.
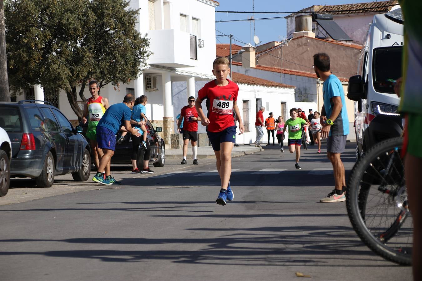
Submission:
[[[230,73],[229,60],[225,57],[216,58],[213,62],[212,73],[216,79],[206,83],[199,90],[195,107],[202,120],[201,124],[207,126],[208,139],[216,156],[217,171],[221,179],[220,193],[215,202],[225,206],[227,200],[231,201],[234,198],[233,190],[230,187],[231,153],[236,135],[233,110],[239,122],[240,134],[243,134],[243,122],[236,104],[239,87],[227,79],[227,75]],[[207,117],[202,110],[204,99],[207,99]]]

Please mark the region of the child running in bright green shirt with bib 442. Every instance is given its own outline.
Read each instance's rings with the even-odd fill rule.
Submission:
[[[302,169],[299,166],[299,158],[300,158],[300,147],[302,146],[302,125],[309,127],[309,123],[303,120],[302,118],[298,117],[298,109],[292,108],[290,110],[290,118],[284,124],[283,129],[283,139],[284,139],[284,132],[287,128],[289,128],[289,139],[287,141],[287,145],[289,146],[290,153],[294,153],[296,151],[296,169]]]

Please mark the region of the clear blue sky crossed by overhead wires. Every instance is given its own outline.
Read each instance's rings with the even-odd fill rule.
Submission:
[[[217,0],[220,5],[216,7],[216,11],[252,11],[252,0]],[[371,0],[254,0],[255,12],[293,12],[312,5],[341,5],[351,3],[377,2]],[[378,1],[380,2],[380,1]],[[233,19],[248,19],[252,13],[215,13],[216,19],[216,43],[229,43],[228,37],[220,35],[232,34],[235,43],[243,46],[244,43],[254,45],[254,24],[250,21],[240,22],[218,22]],[[269,18],[275,16],[287,16],[287,14],[255,14],[255,19]],[[279,36],[286,36],[286,19],[256,20],[255,35],[260,41],[267,43],[279,40]],[[239,42],[241,41],[241,42]]]

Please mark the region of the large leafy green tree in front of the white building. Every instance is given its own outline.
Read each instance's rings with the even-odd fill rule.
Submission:
[[[138,78],[151,54],[125,0],[15,0],[5,3],[9,86],[58,87],[82,118],[90,79],[100,87]],[[77,87],[81,90],[77,92]]]

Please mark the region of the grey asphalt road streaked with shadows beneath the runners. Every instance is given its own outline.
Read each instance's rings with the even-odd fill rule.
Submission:
[[[148,175],[115,167],[120,186],[60,176],[47,195],[15,180],[11,200],[33,200],[0,206],[0,279],[411,280],[360,242],[345,202],[319,203],[334,184],[324,154],[303,151],[296,170],[294,155],[264,148],[232,159],[226,206],[214,203],[214,159]],[[350,170],[354,143],[342,159]]]

